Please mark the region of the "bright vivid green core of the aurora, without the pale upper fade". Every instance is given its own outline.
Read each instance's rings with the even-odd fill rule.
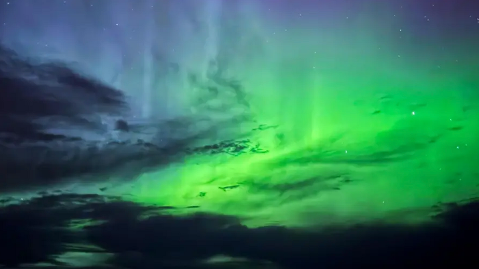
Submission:
[[[278,125],[250,137],[269,153],[189,157],[144,174],[134,200],[307,225],[413,221],[437,202],[477,195],[479,117],[463,109],[459,80],[316,69],[292,63],[246,80],[258,121]]]

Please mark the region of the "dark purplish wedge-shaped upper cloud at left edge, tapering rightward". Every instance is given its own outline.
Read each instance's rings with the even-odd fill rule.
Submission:
[[[101,125],[89,121],[99,113],[121,115],[127,109],[124,94],[87,78],[60,62],[35,63],[0,46],[0,133],[23,141],[51,140],[35,123],[54,118],[68,123]],[[6,139],[5,137],[2,137]]]

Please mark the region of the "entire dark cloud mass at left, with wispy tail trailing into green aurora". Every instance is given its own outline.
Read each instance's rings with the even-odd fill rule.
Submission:
[[[241,94],[238,82],[231,83]],[[129,104],[120,90],[64,63],[25,58],[3,46],[0,87],[0,173],[8,175],[0,182],[2,191],[105,174],[130,179],[188,154],[264,152],[250,140],[211,139],[244,115],[228,122],[205,115],[129,123]],[[115,132],[126,138],[113,137]],[[199,144],[204,138],[213,144]]]

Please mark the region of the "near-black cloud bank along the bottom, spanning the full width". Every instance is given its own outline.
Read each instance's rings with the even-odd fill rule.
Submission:
[[[61,268],[58,255],[83,251],[114,254],[97,266],[138,269],[477,266],[479,202],[443,209],[428,224],[248,228],[237,217],[188,214],[187,208],[46,195],[1,208],[0,265]]]

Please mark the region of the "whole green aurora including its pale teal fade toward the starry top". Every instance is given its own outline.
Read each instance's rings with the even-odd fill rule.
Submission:
[[[426,221],[436,207],[477,197],[475,43],[443,40],[447,53],[433,39],[412,44],[413,29],[391,30],[393,11],[375,7],[318,26],[306,13],[294,23],[244,15],[225,76],[241,82],[253,115],[228,136],[246,148],[63,188],[237,215],[249,226]],[[197,101],[185,88],[168,93],[172,107]]]

